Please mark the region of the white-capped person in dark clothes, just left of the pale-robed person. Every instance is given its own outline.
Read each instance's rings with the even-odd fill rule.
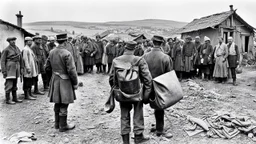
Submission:
[[[210,66],[212,64],[212,53],[213,48],[211,45],[210,38],[204,37],[204,44],[200,50],[201,68],[204,80],[210,80]]]

